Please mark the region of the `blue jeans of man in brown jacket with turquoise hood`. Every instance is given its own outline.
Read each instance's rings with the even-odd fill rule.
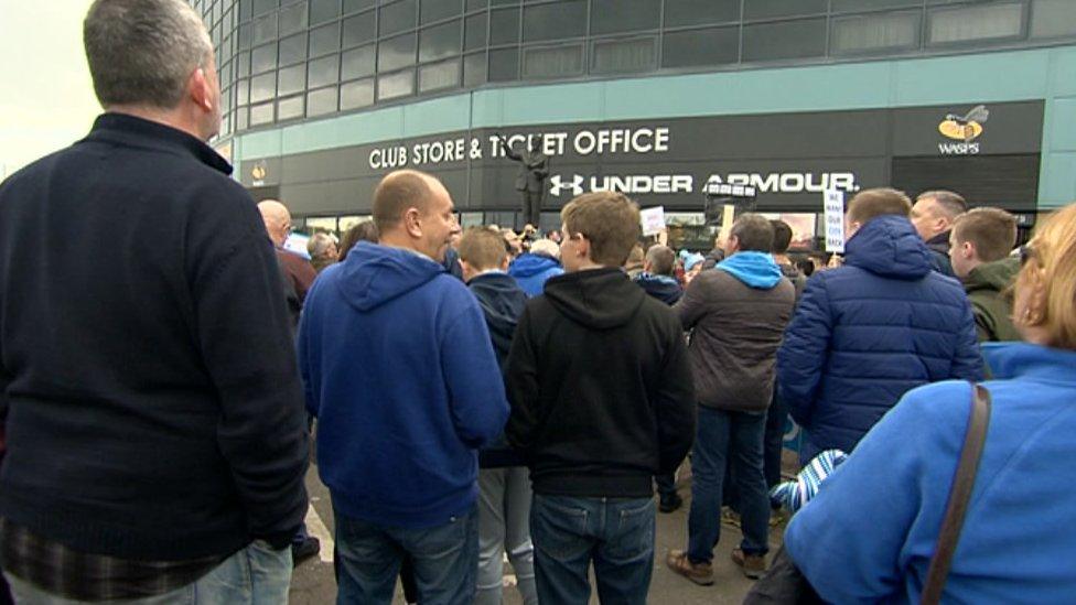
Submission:
[[[692,563],[713,560],[713,547],[721,537],[721,496],[729,458],[740,488],[740,548],[747,554],[770,550],[770,498],[762,474],[765,429],[765,412],[725,412],[699,406],[688,515],[688,559]]]

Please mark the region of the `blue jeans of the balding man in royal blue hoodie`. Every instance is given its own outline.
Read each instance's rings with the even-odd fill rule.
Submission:
[[[470,605],[478,569],[478,508],[429,528],[397,528],[345,517],[334,507],[336,603],[391,603],[405,553],[415,566],[419,603]]]

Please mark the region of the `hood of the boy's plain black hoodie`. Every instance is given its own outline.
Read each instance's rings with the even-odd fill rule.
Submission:
[[[546,298],[570,320],[594,329],[626,324],[646,293],[618,268],[588,269],[546,282]]]

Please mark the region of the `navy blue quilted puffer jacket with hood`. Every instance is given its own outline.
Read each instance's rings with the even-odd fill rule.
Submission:
[[[777,352],[781,393],[807,431],[801,460],[851,452],[906,391],[950,378],[982,378],[964,288],[932,271],[908,219],[874,218],[844,267],[807,282]]]

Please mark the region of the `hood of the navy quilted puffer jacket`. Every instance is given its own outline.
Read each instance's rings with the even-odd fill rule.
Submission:
[[[917,280],[930,272],[930,251],[903,216],[875,217],[844,246],[846,264],[876,276]]]

